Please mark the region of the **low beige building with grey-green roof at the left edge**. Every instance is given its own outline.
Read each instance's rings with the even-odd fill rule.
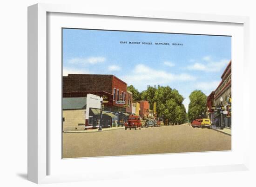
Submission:
[[[86,102],[86,97],[62,98],[63,131],[85,129]]]

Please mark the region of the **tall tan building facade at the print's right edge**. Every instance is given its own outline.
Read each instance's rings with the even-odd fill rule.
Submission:
[[[222,81],[215,90],[215,123],[231,128],[231,60],[222,73]],[[221,124],[222,123],[222,124]]]

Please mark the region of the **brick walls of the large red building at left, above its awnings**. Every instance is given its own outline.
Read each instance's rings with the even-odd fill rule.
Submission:
[[[127,111],[123,107],[123,103],[128,104],[127,84],[114,75],[68,74],[63,76],[62,88],[63,97],[86,97],[89,93],[107,96],[105,110]]]

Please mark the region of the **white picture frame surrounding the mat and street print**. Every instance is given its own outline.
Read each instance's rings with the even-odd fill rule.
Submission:
[[[239,84],[249,87],[249,18],[243,16],[228,16],[228,15],[213,15],[213,14],[195,14],[195,13],[171,13],[162,11],[152,11],[152,10],[125,10],[125,9],[96,9],[84,6],[74,6],[74,5],[54,5],[54,4],[36,4],[28,7],[28,180],[35,183],[52,183],[52,182],[66,182],[66,181],[87,181],[87,180],[99,180],[99,179],[118,179],[118,178],[128,178],[130,175],[124,174],[125,171],[146,171],[151,170],[157,175],[161,174],[189,174],[189,173],[209,173],[209,172],[223,172],[223,171],[242,171],[248,170],[249,168],[249,118],[243,118],[245,116],[245,106],[243,102],[237,103],[237,106],[241,108],[233,110],[232,114],[236,114],[240,111],[240,117],[243,120],[243,130],[236,131],[235,133],[243,137],[243,150],[239,149],[239,155],[245,155],[243,159],[237,159],[231,164],[215,165],[211,163],[209,165],[195,164],[195,166],[186,167],[181,166],[179,168],[173,168],[166,165],[165,168],[147,168],[145,165],[138,165],[136,168],[123,168],[123,174],[116,175],[106,175],[101,176],[97,170],[92,169],[93,166],[88,166],[88,168],[80,168],[80,171],[89,170],[91,167],[91,175],[86,176],[85,174],[58,174],[54,172],[51,174],[49,168],[53,164],[52,158],[49,156],[49,147],[51,147],[51,141],[49,135],[49,123],[50,113],[48,112],[47,104],[49,99],[49,84],[51,83],[50,70],[51,65],[47,64],[48,53],[47,53],[47,42],[50,42],[47,38],[47,13],[72,13],[72,14],[84,14],[84,15],[101,15],[101,16],[114,16],[119,19],[155,19],[157,20],[176,20],[176,21],[195,21],[203,23],[219,23],[221,25],[228,24],[240,24],[242,26],[243,34],[240,37],[243,38],[243,54],[237,59],[242,59],[241,67],[243,68],[243,77],[239,82],[233,84]],[[189,32],[189,31],[188,31]],[[240,32],[239,32],[240,33]],[[203,33],[201,33],[203,34]],[[48,40],[47,40],[48,39]],[[242,40],[241,40],[242,41]],[[241,47],[241,46],[240,46]],[[235,54],[236,55],[236,54]],[[232,55],[233,57],[233,55]],[[236,58],[235,58],[236,59]],[[233,59],[232,59],[233,60]],[[236,60],[235,60],[236,61]],[[233,62],[232,62],[233,65]],[[236,66],[236,65],[235,65]],[[240,67],[240,66],[239,66]],[[248,93],[244,92],[244,89],[240,93],[241,96],[248,97]],[[233,98],[234,100],[234,98]],[[233,105],[234,106],[234,105]],[[233,125],[234,127],[234,125]],[[233,130],[233,129],[232,129]],[[53,133],[53,132],[51,132]],[[233,132],[232,132],[233,133]],[[236,134],[235,134],[236,135]],[[236,136],[237,137],[237,136]],[[236,138],[235,137],[235,138]],[[233,138],[233,137],[232,137]],[[232,140],[233,141],[233,140]],[[234,141],[233,141],[234,142]],[[232,142],[232,143],[233,143]],[[236,141],[235,141],[236,142]],[[247,146],[248,145],[248,146]],[[232,149],[233,150],[233,149]],[[233,150],[236,151],[236,150]],[[214,155],[218,153],[198,153]],[[229,153],[228,153],[229,154]],[[178,154],[172,155],[161,155],[161,159],[168,159],[168,157],[177,157]],[[153,155],[156,157],[157,155]],[[115,162],[117,165],[126,161],[141,161],[144,156],[126,156],[126,157],[115,157]],[[186,155],[181,155],[181,157],[186,157]],[[60,158],[61,159],[61,158]],[[85,159],[86,160],[86,159]],[[239,160],[239,161],[238,161]],[[82,162],[82,159],[76,159],[76,162]],[[88,160],[87,160],[88,161]],[[98,161],[102,166],[97,165],[97,167],[107,167],[104,165],[106,161],[110,161],[108,158],[92,158],[90,161]],[[70,162],[71,163],[71,162]],[[114,162],[113,162],[114,163]],[[125,165],[124,165],[125,166]],[[116,169],[114,167],[114,169]],[[156,171],[156,172],[155,172]],[[94,175],[95,174],[95,175]],[[140,176],[144,176],[143,172],[140,172]],[[148,174],[147,174],[148,175]],[[152,176],[154,176],[153,174]]]

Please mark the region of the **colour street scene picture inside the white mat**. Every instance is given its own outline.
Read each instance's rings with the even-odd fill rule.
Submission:
[[[62,28],[62,158],[231,150],[231,37]]]

